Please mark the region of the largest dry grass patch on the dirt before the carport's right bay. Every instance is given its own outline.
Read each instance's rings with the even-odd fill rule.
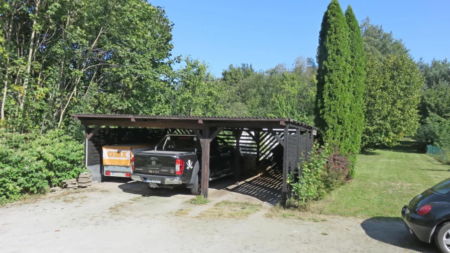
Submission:
[[[200,213],[202,218],[234,218],[243,219],[261,210],[262,204],[223,200]]]

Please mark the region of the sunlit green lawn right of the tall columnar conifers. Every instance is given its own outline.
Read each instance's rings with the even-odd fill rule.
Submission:
[[[427,188],[450,177],[450,166],[419,154],[415,143],[402,141],[393,150],[359,155],[355,179],[312,203],[322,214],[400,217],[401,208]]]

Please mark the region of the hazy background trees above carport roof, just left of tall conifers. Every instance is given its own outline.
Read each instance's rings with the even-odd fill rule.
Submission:
[[[267,71],[230,65],[214,85],[222,82],[230,94],[222,106],[226,115],[290,117],[313,124],[315,70],[312,59],[301,57],[292,68],[279,64]]]

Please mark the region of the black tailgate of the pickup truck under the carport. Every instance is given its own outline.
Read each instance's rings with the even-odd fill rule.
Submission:
[[[136,173],[149,175],[176,175],[175,162],[177,157],[193,154],[180,151],[144,151],[135,155]]]

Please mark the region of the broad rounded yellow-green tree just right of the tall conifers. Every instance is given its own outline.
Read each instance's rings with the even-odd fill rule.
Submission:
[[[366,55],[365,124],[362,149],[395,146],[414,136],[419,116],[420,87],[423,77],[407,55],[388,55],[381,59]]]

